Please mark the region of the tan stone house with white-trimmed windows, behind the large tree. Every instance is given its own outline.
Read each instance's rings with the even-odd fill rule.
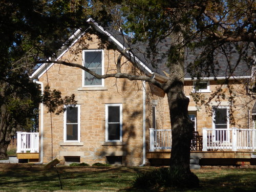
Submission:
[[[118,31],[106,30],[98,25],[95,28],[108,35],[117,49],[99,48],[96,36],[90,35],[91,38],[88,38],[86,33],[78,30],[71,37],[72,45],[63,48],[57,59],[80,63],[99,74],[115,73],[117,58],[126,43]],[[131,62],[136,62],[138,69]],[[122,57],[121,63],[125,72],[143,73],[162,82],[167,78],[163,70],[149,66],[139,52]],[[189,117],[195,124],[195,131],[200,136],[203,132],[206,134],[204,138],[201,137],[206,144],[201,143],[200,151],[232,151],[234,145],[231,140],[234,137],[230,136],[231,127],[252,129],[249,114],[252,103],[244,89],[245,82],[251,77],[250,73],[246,63],[243,63],[229,82],[222,86],[225,97],[216,95],[214,98],[221,97],[221,101],[212,99],[208,108],[199,107],[192,98],[193,94],[203,95],[204,100],[212,97],[227,76],[225,70],[220,70],[217,78],[203,78],[197,91],[194,79],[189,74],[185,76],[184,92],[190,99]],[[79,68],[54,63],[41,65],[31,77],[42,88],[49,85],[51,89],[60,90],[63,96],[75,94],[78,101],[74,108],[67,108],[60,115],[50,114],[44,105],[40,106],[40,162],[47,163],[58,158],[62,164],[108,162],[138,166],[157,158],[150,153],[170,151],[171,127],[167,98],[162,90],[152,84],[125,78],[97,79]],[[239,110],[232,111],[234,125],[229,120],[233,106],[229,102],[231,89],[228,88],[237,92],[234,105]],[[211,132],[206,129],[211,129]],[[255,132],[247,136],[245,134],[243,137],[251,139]],[[215,144],[211,145],[209,141]]]

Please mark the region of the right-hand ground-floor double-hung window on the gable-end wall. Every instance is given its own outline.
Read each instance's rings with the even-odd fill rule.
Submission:
[[[122,104],[106,104],[105,110],[106,141],[122,141]]]

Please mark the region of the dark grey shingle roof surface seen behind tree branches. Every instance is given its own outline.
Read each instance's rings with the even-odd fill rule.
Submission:
[[[167,55],[169,45],[168,45],[168,39],[165,42],[162,42],[159,44],[158,49],[158,65],[154,66],[152,65],[152,58],[148,57],[146,55],[146,43],[145,42],[136,42],[136,44],[131,44],[131,37],[129,36],[123,36],[123,34],[120,31],[114,30],[114,29],[105,29],[108,31],[115,39],[117,39],[124,47],[131,47],[132,53],[140,60],[142,61],[150,70],[152,70],[155,73],[158,73],[160,75],[166,76],[165,73],[169,72],[169,68],[166,67],[167,63]],[[126,38],[128,41],[125,41],[124,38]],[[120,50],[120,46],[118,46]],[[206,67],[198,68],[196,69],[196,72],[201,72],[201,77],[208,77],[208,76],[216,76],[216,77],[225,77],[225,76],[250,76],[250,67],[248,63],[241,59],[239,65],[235,68],[236,63],[238,61],[239,54],[234,51],[234,48],[230,48],[228,52],[228,58],[230,59],[230,65],[228,65],[227,57],[221,50],[216,50],[215,56],[214,56],[214,63],[208,63],[207,66],[211,67],[211,65],[215,65],[214,72],[216,74],[213,74],[210,72],[209,69],[206,69]],[[227,51],[227,50],[226,50]],[[195,58],[201,54],[201,51],[195,51],[192,53],[191,51],[187,51],[185,53],[185,70],[186,74],[185,77],[191,77],[191,74],[187,72],[187,67],[189,63],[193,63]],[[164,73],[165,72],[165,73]],[[209,73],[208,73],[209,72]]]

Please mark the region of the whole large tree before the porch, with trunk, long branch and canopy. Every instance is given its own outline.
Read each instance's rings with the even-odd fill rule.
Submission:
[[[248,70],[251,69],[256,40],[254,1],[102,0],[91,1],[91,5],[94,10],[92,17],[97,23],[106,23],[99,15],[107,12],[108,24],[121,29],[124,39],[128,35],[132,37],[129,39],[132,44],[145,46],[143,54],[149,65],[161,69],[164,61],[167,80],[159,82],[143,75],[123,74],[119,65],[116,74],[98,75],[76,63],[57,63],[79,67],[97,78],[145,80],[161,88],[168,98],[172,125],[172,184],[197,186],[197,178],[189,169],[193,125],[188,119],[189,99],[184,95],[184,77],[186,73],[198,80],[217,76],[219,65],[216,57],[219,53],[226,60],[227,81],[236,76],[242,60]],[[129,49],[132,54],[136,47]],[[195,57],[188,66],[184,62],[186,50],[193,52]],[[236,60],[231,59],[231,53],[238,55]]]

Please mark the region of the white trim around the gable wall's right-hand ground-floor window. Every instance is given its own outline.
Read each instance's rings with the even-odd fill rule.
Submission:
[[[119,140],[109,140],[109,125],[108,125],[108,117],[109,117],[109,106],[119,106],[120,110],[120,139]],[[122,135],[123,135],[123,108],[122,103],[111,103],[105,104],[105,141],[106,142],[122,142]]]

